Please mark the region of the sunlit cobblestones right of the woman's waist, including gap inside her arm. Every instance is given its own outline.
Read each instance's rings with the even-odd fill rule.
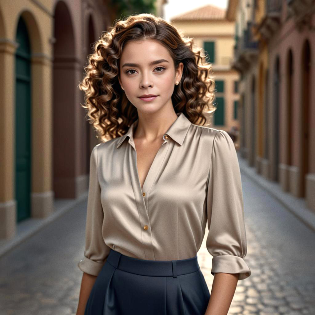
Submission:
[[[242,174],[247,255],[229,314],[315,315],[315,234]],[[198,261],[211,293],[209,253]]]

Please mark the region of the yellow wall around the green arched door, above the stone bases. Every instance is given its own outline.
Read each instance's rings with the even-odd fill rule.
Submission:
[[[1,44],[1,63],[5,65],[5,80],[0,85],[0,99],[3,104],[4,115],[0,117],[0,124],[5,126],[3,141],[0,143],[0,152],[4,152],[2,167],[0,168],[0,200],[6,202],[14,199],[14,117],[15,117],[15,68],[14,53],[15,36],[18,19],[22,14],[26,21],[30,43],[31,43],[31,75],[32,81],[32,168],[38,176],[32,181],[32,192],[45,192],[51,190],[51,128],[47,125],[51,123],[51,55],[52,45],[52,16],[50,10],[53,2],[50,0],[42,1],[42,7],[32,1],[17,1],[12,5],[9,1],[0,3],[0,11],[5,28],[1,34],[5,38]],[[8,119],[8,117],[11,117]],[[41,123],[36,123],[40,120]],[[37,128],[34,130],[34,127]],[[41,140],[38,135],[42,135]],[[38,143],[40,142],[40,143]],[[41,154],[36,152],[41,150]],[[46,155],[47,158],[43,158]],[[44,165],[45,161],[48,164]]]

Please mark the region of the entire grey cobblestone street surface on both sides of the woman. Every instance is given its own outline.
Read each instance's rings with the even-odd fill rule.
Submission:
[[[315,235],[242,174],[247,255],[229,314],[315,315]],[[82,272],[86,203],[68,211],[0,259],[1,315],[75,314]],[[198,262],[209,291],[212,256]]]

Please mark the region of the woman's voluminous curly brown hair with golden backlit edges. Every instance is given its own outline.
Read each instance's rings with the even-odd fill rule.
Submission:
[[[126,20],[115,20],[114,26],[94,43],[93,54],[88,55],[84,66],[86,75],[78,85],[85,93],[85,105],[80,105],[87,109],[87,119],[101,141],[124,135],[138,118],[136,107],[118,81],[119,60],[127,42],[146,39],[156,40],[168,49],[175,69],[180,62],[184,64],[182,78],[171,97],[175,112],[183,112],[192,123],[204,125],[204,113],[211,115],[216,109],[212,104],[213,72],[204,50],[161,17],[147,13],[129,15]]]

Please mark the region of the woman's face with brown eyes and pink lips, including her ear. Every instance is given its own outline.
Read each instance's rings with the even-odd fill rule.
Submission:
[[[119,83],[138,112],[152,113],[164,106],[173,107],[171,96],[182,76],[183,63],[177,71],[169,51],[154,40],[130,41],[120,59]],[[153,99],[142,95],[157,95]]]

